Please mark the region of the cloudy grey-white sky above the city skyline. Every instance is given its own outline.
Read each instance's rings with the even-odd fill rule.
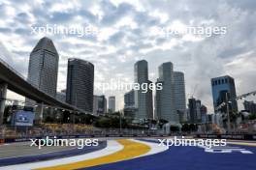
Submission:
[[[133,65],[148,62],[149,78],[155,82],[157,68],[171,61],[175,71],[185,73],[186,96],[202,99],[212,108],[210,78],[229,74],[236,80],[237,94],[256,90],[255,0],[0,0],[0,54],[24,76],[29,53],[44,36],[60,55],[58,90],[66,87],[67,59],[77,57],[95,66],[95,82],[111,79],[133,81]],[[54,24],[62,27],[93,27],[95,35],[32,32]],[[155,28],[226,27],[224,35],[191,33],[159,34]],[[108,91],[117,107],[125,91]],[[102,92],[95,92],[100,95]],[[17,96],[9,93],[12,98]],[[240,108],[242,109],[242,108]]]

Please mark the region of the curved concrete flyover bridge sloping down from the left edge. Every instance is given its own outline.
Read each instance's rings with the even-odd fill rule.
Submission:
[[[78,107],[55,99],[39,90],[37,87],[26,81],[25,77],[0,58],[0,125],[3,122],[7,89],[26,98],[33,99],[38,103],[85,113],[85,111]]]

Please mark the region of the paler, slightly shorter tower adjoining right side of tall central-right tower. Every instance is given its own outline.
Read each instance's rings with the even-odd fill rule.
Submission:
[[[174,71],[174,86],[175,86],[175,103],[177,114],[185,114],[186,112],[186,94],[184,73]]]

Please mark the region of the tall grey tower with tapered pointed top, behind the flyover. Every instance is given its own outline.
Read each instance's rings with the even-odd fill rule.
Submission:
[[[56,97],[58,52],[53,42],[44,37],[30,53],[27,81],[49,96]],[[34,101],[26,99],[28,104]]]

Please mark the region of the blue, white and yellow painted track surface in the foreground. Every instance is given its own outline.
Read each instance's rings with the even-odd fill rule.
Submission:
[[[18,156],[30,161],[18,162],[15,158],[9,164],[1,164],[0,170],[41,169],[41,170],[255,170],[256,145],[249,142],[233,141],[228,146],[166,147],[155,140],[117,139],[103,142],[97,148],[86,148],[69,155],[78,149],[56,151],[61,156],[33,160],[30,156]],[[63,155],[64,152],[64,155]],[[46,155],[46,154],[42,154]],[[12,162],[12,160],[14,160]]]

